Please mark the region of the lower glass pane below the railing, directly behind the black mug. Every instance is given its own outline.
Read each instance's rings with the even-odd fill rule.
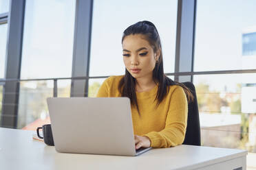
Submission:
[[[52,80],[21,82],[17,128],[36,130],[50,123],[46,99],[53,97],[53,84]]]

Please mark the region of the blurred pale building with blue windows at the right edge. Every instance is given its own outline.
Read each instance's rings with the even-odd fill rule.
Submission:
[[[256,26],[242,33],[242,69],[256,68]],[[242,114],[248,114],[248,142],[256,145],[256,79],[242,77]]]

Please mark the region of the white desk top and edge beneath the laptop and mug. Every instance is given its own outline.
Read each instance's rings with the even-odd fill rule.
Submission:
[[[0,127],[0,169],[246,169],[247,151],[179,145],[140,156],[61,154],[35,132]]]

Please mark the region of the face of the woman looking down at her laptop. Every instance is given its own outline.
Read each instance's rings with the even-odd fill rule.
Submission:
[[[134,34],[126,36],[122,41],[122,56],[127,71],[137,79],[152,77],[160,52],[154,53],[143,35]]]

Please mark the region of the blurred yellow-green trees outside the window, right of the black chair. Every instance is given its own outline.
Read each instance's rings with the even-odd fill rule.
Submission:
[[[247,149],[253,151],[253,146],[248,145],[248,127],[249,127],[249,114],[241,112],[241,91],[242,84],[237,84],[235,93],[213,91],[209,89],[209,85],[201,82],[195,86],[199,110],[210,112],[221,112],[222,106],[230,108],[231,114],[241,115],[241,133],[239,141],[232,141],[232,136],[222,138],[222,141],[228,143],[228,146],[237,146],[239,149]],[[255,151],[255,150],[254,150]]]

